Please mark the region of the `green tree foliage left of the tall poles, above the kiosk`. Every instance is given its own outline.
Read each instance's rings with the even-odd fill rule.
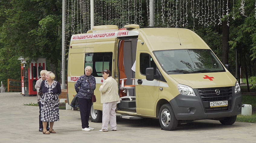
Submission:
[[[62,0],[2,0],[0,19],[0,80],[21,79],[19,57],[27,63],[46,57],[58,66]]]

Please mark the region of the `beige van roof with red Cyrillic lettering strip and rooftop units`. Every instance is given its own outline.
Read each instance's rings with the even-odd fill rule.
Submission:
[[[140,34],[139,34],[140,33]],[[118,29],[116,25],[94,26],[84,34],[72,35],[70,44],[82,43],[86,39],[118,38],[139,36],[144,43],[154,47],[153,50],[168,49],[210,49],[208,45],[195,32],[185,28],[140,28],[139,25],[130,24]],[[79,41],[78,41],[79,40]]]

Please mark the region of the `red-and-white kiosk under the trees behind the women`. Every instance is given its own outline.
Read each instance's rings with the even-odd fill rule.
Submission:
[[[25,59],[19,58],[21,60],[21,89],[23,96],[36,96],[37,90],[35,89],[35,84],[38,79],[41,78],[41,70],[46,69],[46,59],[39,58],[37,62],[31,62],[29,65],[26,63]]]

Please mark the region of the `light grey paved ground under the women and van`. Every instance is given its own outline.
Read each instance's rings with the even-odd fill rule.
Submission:
[[[194,121],[178,125],[175,131],[164,131],[156,119],[128,120],[117,116],[117,131],[99,132],[102,124],[89,122],[95,130],[84,132],[79,111],[73,110],[60,110],[60,121],[53,126],[57,133],[44,135],[38,132],[39,108],[24,105],[36,102],[36,96],[0,93],[0,142],[256,142],[255,123],[223,126],[214,120]]]

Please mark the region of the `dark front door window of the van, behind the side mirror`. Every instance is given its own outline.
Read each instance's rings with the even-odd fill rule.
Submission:
[[[140,54],[140,72],[141,75],[146,75],[146,68],[154,68],[154,74],[156,74],[156,64],[152,57],[148,53]]]

